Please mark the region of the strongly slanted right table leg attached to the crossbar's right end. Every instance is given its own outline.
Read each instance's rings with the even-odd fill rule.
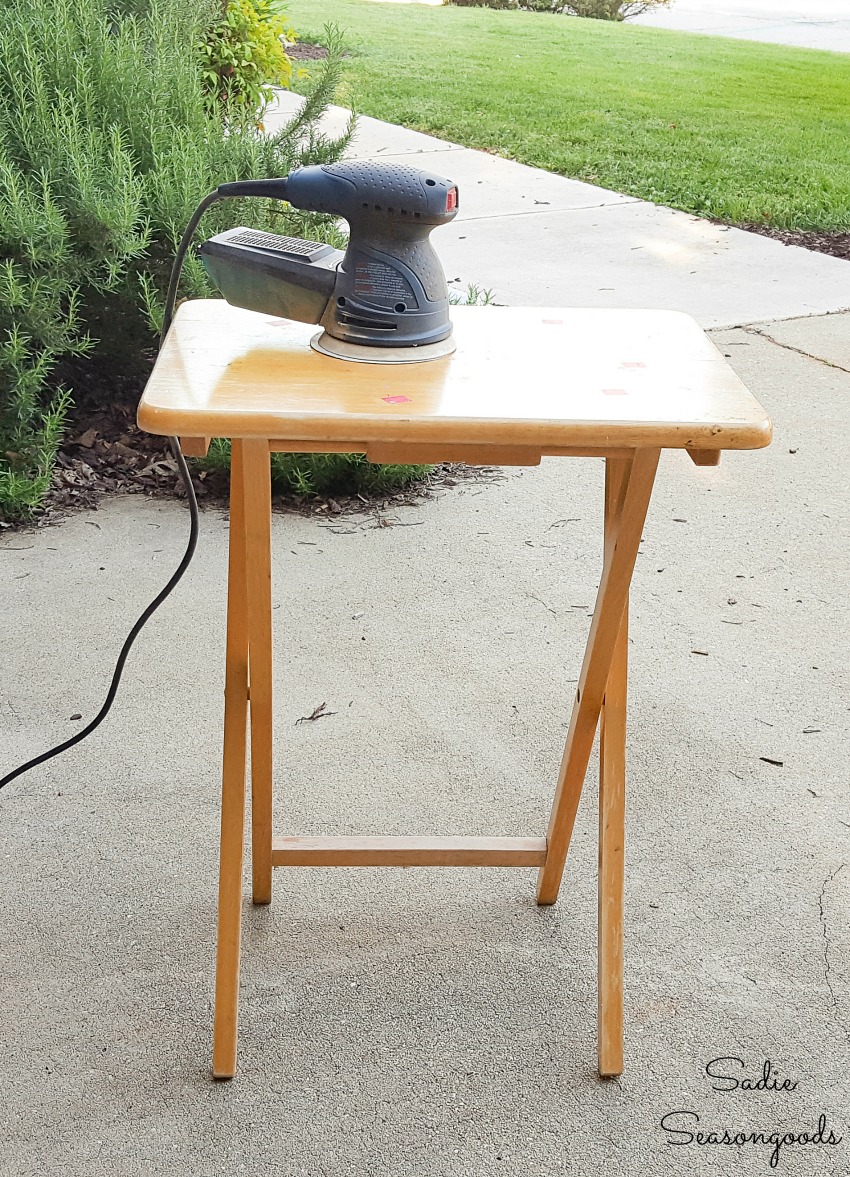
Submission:
[[[546,862],[538,877],[539,904],[558,898],[658,458],[658,450],[636,450],[631,458],[623,459],[623,479],[606,528],[602,579],[549,822]]]

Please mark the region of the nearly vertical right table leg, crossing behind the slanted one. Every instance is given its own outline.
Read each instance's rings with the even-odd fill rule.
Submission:
[[[610,536],[624,463],[605,461],[605,536]],[[623,1073],[623,853],[629,601],[613,651],[599,720],[598,1058],[599,1073]]]

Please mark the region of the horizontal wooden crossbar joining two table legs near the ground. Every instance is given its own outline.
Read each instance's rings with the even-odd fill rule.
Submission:
[[[274,838],[274,866],[542,866],[545,838]]]

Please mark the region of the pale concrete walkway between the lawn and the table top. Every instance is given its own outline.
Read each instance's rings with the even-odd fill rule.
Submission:
[[[303,99],[281,92],[274,129]],[[348,112],[332,107],[339,134]],[[663,307],[704,327],[850,307],[850,262],[713,225],[361,117],[348,155],[427,166],[456,180],[460,213],[434,233],[456,290],[470,282],[513,306]]]

